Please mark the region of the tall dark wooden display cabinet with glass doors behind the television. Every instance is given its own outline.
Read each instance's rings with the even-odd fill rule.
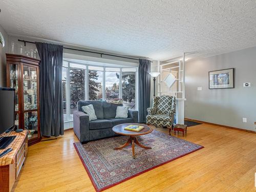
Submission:
[[[28,130],[29,145],[40,142],[39,61],[6,54],[7,87],[15,89],[15,125]]]

